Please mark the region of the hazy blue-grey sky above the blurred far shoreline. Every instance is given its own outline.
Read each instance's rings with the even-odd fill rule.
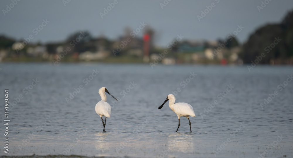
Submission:
[[[141,22],[145,22],[157,33],[156,45],[166,47],[177,34],[191,40],[224,39],[237,29],[237,25],[242,25],[244,28],[237,38],[244,42],[256,28],[267,23],[280,22],[293,9],[293,1],[276,0],[270,1],[260,12],[257,6],[261,5],[261,1],[255,0],[219,0],[219,3],[215,0],[172,0],[163,9],[160,3],[164,0],[117,0],[118,4],[101,18],[100,12],[113,1],[71,0],[64,6],[62,0],[21,0],[4,16],[2,10],[6,10],[6,5],[9,6],[12,2],[1,0],[0,34],[17,40],[28,38],[32,34],[32,42],[44,43],[61,41],[78,30],[88,30],[93,36],[103,34],[110,39],[117,39],[124,34],[125,27],[129,26],[134,30]],[[215,3],[215,6],[199,21],[197,15],[211,3]],[[50,22],[35,35],[32,31],[42,24],[43,19]]]

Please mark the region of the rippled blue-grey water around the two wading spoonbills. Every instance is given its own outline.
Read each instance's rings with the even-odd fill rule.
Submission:
[[[246,66],[1,63],[0,68],[1,100],[9,89],[11,103],[9,154],[1,103],[2,156],[293,157],[288,79],[293,67],[257,65],[249,72]],[[106,94],[112,106],[106,132],[95,112],[103,86],[119,100]],[[168,94],[193,106],[192,133],[184,117],[175,132],[178,118],[168,102],[158,109]]]

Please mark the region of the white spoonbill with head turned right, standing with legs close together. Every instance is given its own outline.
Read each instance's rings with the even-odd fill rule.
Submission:
[[[109,103],[107,103],[107,96],[105,94],[105,92],[107,92],[108,94],[109,91],[105,88],[105,87],[102,87],[100,90],[99,90],[99,94],[102,98],[101,101],[99,101],[97,104],[96,104],[96,113],[98,115],[100,115],[100,118],[102,119],[102,122],[103,122],[103,126],[104,126],[104,130],[103,132],[105,132],[105,126],[106,126],[106,119],[107,117],[110,117],[111,115],[111,106]],[[110,94],[112,96],[112,94]],[[113,96],[114,99],[116,99],[114,96]],[[117,100],[117,99],[116,99]],[[118,100],[117,100],[118,101]],[[105,123],[103,121],[103,118],[102,116],[105,116]]]

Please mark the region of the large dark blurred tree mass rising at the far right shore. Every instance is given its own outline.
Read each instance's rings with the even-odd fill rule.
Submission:
[[[280,39],[279,43],[274,43],[276,38]],[[262,53],[265,53],[265,57],[260,64],[292,64],[293,11],[281,23],[267,24],[251,34],[242,46],[241,58],[244,63],[251,63]]]

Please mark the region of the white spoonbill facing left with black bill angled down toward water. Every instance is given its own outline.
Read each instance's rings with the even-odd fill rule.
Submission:
[[[163,105],[168,100],[169,100],[169,107],[178,116],[178,128],[180,126],[180,117],[183,116],[183,117],[188,118],[189,126],[190,126],[190,132],[191,132],[191,123],[190,123],[190,120],[189,120],[189,116],[195,117],[193,107],[188,103],[176,103],[176,104],[174,104],[176,98],[175,98],[175,96],[173,94],[169,94],[167,96],[166,100],[164,101],[164,103],[159,107],[159,109],[161,109],[163,107]],[[178,131],[178,128],[177,128],[176,132]]]

